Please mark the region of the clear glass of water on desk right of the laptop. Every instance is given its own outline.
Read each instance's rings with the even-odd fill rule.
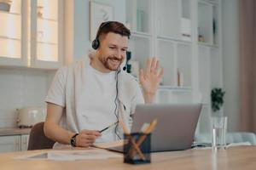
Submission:
[[[212,149],[224,150],[226,148],[227,116],[212,117]]]

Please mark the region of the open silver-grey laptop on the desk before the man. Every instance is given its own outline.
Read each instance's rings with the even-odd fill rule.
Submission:
[[[144,122],[158,120],[151,134],[151,151],[191,148],[201,104],[137,105],[131,132],[140,132]],[[109,148],[122,151],[122,148]]]

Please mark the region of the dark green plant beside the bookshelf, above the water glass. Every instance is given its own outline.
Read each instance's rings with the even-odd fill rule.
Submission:
[[[221,106],[224,104],[224,94],[225,92],[222,88],[212,88],[212,111],[217,112],[220,110]]]

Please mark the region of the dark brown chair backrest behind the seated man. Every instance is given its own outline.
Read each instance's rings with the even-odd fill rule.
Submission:
[[[47,138],[44,134],[44,122],[35,124],[30,132],[27,150],[51,149],[55,141]]]

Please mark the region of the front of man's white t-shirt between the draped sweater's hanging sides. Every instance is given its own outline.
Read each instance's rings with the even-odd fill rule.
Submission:
[[[113,122],[117,122],[114,99],[116,90],[116,72],[102,73],[96,71],[90,65],[85,68],[84,105],[82,107],[82,119],[79,120],[82,129],[101,130]],[[86,122],[86,123],[84,123]],[[97,142],[115,140],[114,127],[102,133],[102,138]]]

